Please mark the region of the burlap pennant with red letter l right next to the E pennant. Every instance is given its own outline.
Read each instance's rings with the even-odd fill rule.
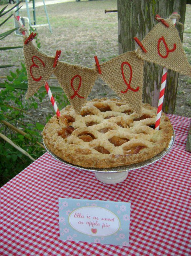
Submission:
[[[54,71],[74,110],[79,113],[97,78],[96,69],[58,62]]]

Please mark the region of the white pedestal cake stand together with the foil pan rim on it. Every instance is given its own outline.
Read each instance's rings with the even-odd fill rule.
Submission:
[[[163,151],[161,151],[159,154],[155,155],[154,157],[152,157],[148,160],[145,160],[143,162],[136,163],[136,164],[126,165],[126,166],[117,166],[117,167],[111,167],[111,168],[105,168],[105,169],[85,168],[85,167],[81,167],[78,165],[68,163],[68,162],[62,160],[61,158],[59,158],[58,156],[56,156],[55,154],[53,154],[50,150],[48,150],[44,141],[43,141],[43,144],[44,144],[44,147],[46,148],[46,150],[49,152],[49,154],[51,154],[56,160],[58,160],[62,163],[65,163],[69,166],[73,166],[80,170],[94,172],[96,178],[103,183],[116,184],[116,183],[120,183],[120,182],[124,181],[127,178],[129,171],[139,169],[144,166],[148,166],[148,165],[153,164],[154,162],[158,161],[162,157],[164,157],[171,150],[172,146],[174,145],[174,141],[175,141],[175,133],[173,130],[173,136],[171,137],[168,147],[165,148]]]

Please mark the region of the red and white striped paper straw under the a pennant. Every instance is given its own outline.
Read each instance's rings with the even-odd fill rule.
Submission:
[[[177,13],[177,12],[173,12],[173,13]],[[173,22],[174,25],[176,25],[176,19],[172,19],[172,22]],[[164,67],[163,68],[162,81],[161,81],[161,89],[160,89],[160,95],[159,95],[157,116],[156,116],[156,122],[155,122],[155,130],[159,130],[159,127],[160,127],[161,114],[162,114],[163,101],[164,101],[164,94],[165,94],[167,71],[168,71],[168,69]]]

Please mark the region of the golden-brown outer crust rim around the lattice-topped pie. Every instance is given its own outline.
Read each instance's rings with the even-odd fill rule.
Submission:
[[[117,99],[94,99],[92,101],[88,101],[89,103],[95,102],[114,102],[114,103],[122,103],[122,101]],[[86,104],[86,105],[87,105]],[[128,105],[124,105],[128,106]],[[87,107],[86,107],[87,108]],[[152,120],[156,119],[157,108],[150,106],[149,104],[142,104],[142,109],[146,109],[149,113],[152,113]],[[74,115],[74,110],[70,105],[66,106],[64,109],[61,110],[61,115],[70,113]],[[71,116],[72,116],[71,115]],[[75,113],[75,115],[78,115]],[[132,117],[131,117],[132,116]],[[136,113],[132,113],[130,115],[131,119],[136,118]],[[146,119],[145,119],[146,120]],[[45,125],[43,129],[43,140],[45,146],[48,150],[50,150],[53,154],[58,156],[59,158],[63,159],[64,161],[88,168],[111,168],[116,166],[123,166],[123,165],[130,165],[133,163],[139,163],[145,161],[149,158],[152,158],[156,154],[163,151],[169,144],[171,140],[171,136],[173,134],[172,125],[167,116],[162,112],[161,115],[161,122],[160,122],[160,130],[156,131],[152,128],[152,134],[149,136],[153,139],[157,137],[156,142],[149,142],[147,148],[140,150],[137,154],[104,154],[100,153],[94,149],[90,149],[89,146],[85,147],[76,144],[68,144],[67,138],[63,139],[61,136],[58,135],[58,131],[61,129],[61,126],[58,124],[58,118],[54,115],[48,123]],[[83,128],[79,128],[83,129]],[[86,128],[84,128],[86,129]],[[72,135],[72,134],[71,134]],[[134,134],[133,134],[134,135]],[[148,135],[148,134],[147,134]],[[135,134],[137,136],[137,134]],[[144,139],[141,137],[139,141]],[[133,139],[132,139],[133,140]],[[133,144],[133,142],[132,142]],[[136,143],[135,143],[136,144]],[[145,144],[143,143],[143,146]],[[120,146],[121,147],[121,146]]]

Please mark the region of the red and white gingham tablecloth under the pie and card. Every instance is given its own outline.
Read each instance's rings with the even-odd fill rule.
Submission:
[[[189,118],[168,115],[172,150],[109,185],[43,154],[0,189],[0,255],[191,255]],[[59,239],[58,198],[131,202],[130,246]]]

